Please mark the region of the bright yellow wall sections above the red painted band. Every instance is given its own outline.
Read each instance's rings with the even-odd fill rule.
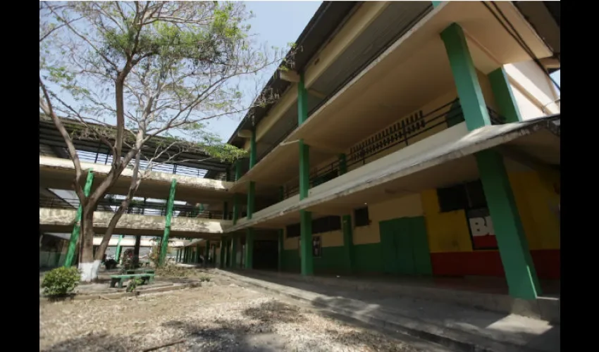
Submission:
[[[560,249],[555,211],[559,196],[553,191],[553,182],[559,182],[559,176],[535,171],[510,172],[508,176],[529,249]],[[464,210],[439,213],[436,190],[421,195],[431,253],[472,251]]]

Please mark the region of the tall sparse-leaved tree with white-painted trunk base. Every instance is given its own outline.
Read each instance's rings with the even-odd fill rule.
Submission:
[[[278,99],[268,92],[248,103],[240,87],[282,59],[285,68],[291,64],[284,51],[254,42],[246,25],[251,16],[239,2],[40,3],[39,107],[54,121],[75,166],[82,280],[97,277],[113,229],[153,165],[189,149],[229,161],[244,154],[206,132],[204,123]],[[69,134],[58,114],[82,127]],[[153,154],[144,151],[158,136],[167,142]],[[109,174],[89,196],[73,144],[84,137],[98,139],[113,157]],[[125,168],[132,168],[128,192],[94,257],[94,210]]]

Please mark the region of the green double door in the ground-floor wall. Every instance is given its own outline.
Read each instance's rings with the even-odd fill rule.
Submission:
[[[397,218],[378,223],[381,233],[383,272],[399,275],[431,275],[431,254],[424,217]]]

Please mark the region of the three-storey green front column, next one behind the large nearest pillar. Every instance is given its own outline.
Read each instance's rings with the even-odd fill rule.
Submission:
[[[300,75],[297,84],[297,125],[308,119],[308,92],[304,87],[304,75]],[[308,196],[310,187],[309,146],[300,139],[300,201]],[[314,274],[314,258],[312,258],[312,213],[300,210],[300,246],[302,275]]]

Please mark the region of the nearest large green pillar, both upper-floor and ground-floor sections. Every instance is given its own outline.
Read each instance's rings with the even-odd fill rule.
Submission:
[[[450,60],[468,130],[490,125],[486,103],[462,28],[452,23],[443,30],[441,38]],[[505,96],[500,96],[498,105],[505,106],[506,100]],[[505,107],[502,109],[502,113],[505,113]],[[535,299],[541,289],[503,158],[493,150],[478,152],[475,157],[510,295]]]

